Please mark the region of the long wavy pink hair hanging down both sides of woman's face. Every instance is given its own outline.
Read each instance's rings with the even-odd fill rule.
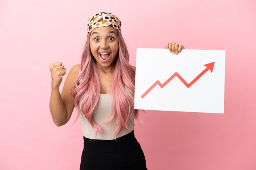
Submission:
[[[101,85],[99,80],[99,68],[90,50],[90,35],[88,35],[81,59],[81,73],[74,82],[77,87],[71,94],[74,98],[76,107],[76,120],[79,117],[79,112],[85,116],[88,122],[95,129],[95,137],[97,132],[102,132],[101,126],[97,124],[93,118],[93,112],[99,102]],[[128,129],[127,122],[132,116],[133,111],[135,121],[139,124],[138,110],[133,109],[134,101],[128,95],[125,86],[134,96],[135,89],[135,67],[129,63],[129,54],[126,43],[119,31],[117,31],[119,41],[119,52],[115,59],[115,70],[111,78],[111,99],[112,99],[112,116],[104,123],[113,122],[116,115],[119,120],[119,125],[115,131],[115,137],[122,129]],[[80,83],[79,81],[83,79]],[[81,108],[79,107],[79,100]],[[83,107],[82,107],[83,106]],[[75,121],[76,121],[75,120]]]

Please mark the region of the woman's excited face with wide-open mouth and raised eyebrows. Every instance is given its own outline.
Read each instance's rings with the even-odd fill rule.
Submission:
[[[115,28],[106,26],[95,28],[90,36],[90,49],[101,70],[115,67],[118,52],[118,37]]]

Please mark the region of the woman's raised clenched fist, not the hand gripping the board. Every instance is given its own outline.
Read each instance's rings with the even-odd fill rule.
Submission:
[[[52,76],[52,85],[59,86],[62,81],[62,76],[66,74],[66,68],[61,62],[50,64],[50,71]]]

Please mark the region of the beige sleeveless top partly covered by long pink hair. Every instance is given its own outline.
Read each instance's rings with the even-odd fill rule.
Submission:
[[[81,70],[80,70],[81,71]],[[80,74],[79,71],[79,74]],[[82,80],[80,80],[80,83]],[[129,96],[134,100],[134,96],[129,92],[129,90],[126,88],[126,91],[128,92]],[[81,102],[79,102],[79,107],[81,109]],[[115,139],[114,134],[115,130],[117,129],[116,122],[118,122],[118,117],[115,117],[115,120],[110,123],[105,123],[106,120],[108,120],[111,116],[111,108],[112,108],[112,101],[110,94],[100,94],[98,105],[93,113],[93,120],[101,126],[102,133],[98,131],[97,136],[95,137],[95,130],[91,126],[91,124],[88,122],[88,120],[83,116],[83,114],[79,113],[80,123],[83,130],[83,135],[86,138],[89,139],[104,139],[104,140],[112,140]],[[122,129],[116,136],[116,138],[124,136],[128,133],[130,133],[133,130],[134,127],[134,111],[132,113],[132,116],[127,122],[127,129]]]

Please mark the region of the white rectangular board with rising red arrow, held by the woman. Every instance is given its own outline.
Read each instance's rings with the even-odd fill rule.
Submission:
[[[137,48],[134,109],[224,113],[225,50]]]

